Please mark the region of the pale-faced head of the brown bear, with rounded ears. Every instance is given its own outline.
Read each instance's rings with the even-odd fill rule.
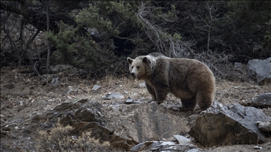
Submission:
[[[127,62],[133,78],[147,80],[150,77],[151,61],[147,56],[138,56],[135,59],[128,57]]]

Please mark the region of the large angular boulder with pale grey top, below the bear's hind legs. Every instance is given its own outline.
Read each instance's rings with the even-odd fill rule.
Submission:
[[[239,103],[223,106],[218,101],[203,111],[188,134],[205,146],[261,144],[267,134],[260,132],[255,122],[269,122],[270,117],[254,107]]]

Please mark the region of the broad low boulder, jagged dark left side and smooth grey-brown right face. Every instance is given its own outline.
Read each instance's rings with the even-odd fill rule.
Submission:
[[[136,144],[147,140],[169,138],[179,132],[188,132],[187,122],[157,103],[126,105],[112,103],[106,106],[82,99],[61,103],[42,115],[39,129],[49,131],[57,122],[70,125],[71,135],[90,132],[92,137],[109,141],[116,148],[130,151]]]

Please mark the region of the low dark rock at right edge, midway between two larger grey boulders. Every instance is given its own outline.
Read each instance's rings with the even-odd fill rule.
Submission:
[[[252,103],[255,108],[271,108],[271,93],[260,94]]]

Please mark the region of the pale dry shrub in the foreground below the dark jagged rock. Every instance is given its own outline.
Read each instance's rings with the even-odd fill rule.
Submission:
[[[84,132],[81,137],[69,136],[73,127],[56,124],[51,132],[38,131],[37,151],[112,151],[109,141],[101,142]]]

